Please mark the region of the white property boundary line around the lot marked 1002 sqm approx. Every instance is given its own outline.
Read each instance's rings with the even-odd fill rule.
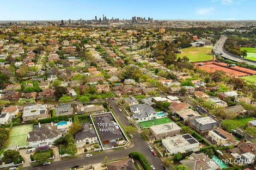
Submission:
[[[113,147],[113,148],[104,148],[104,147],[103,147],[102,141],[101,141],[101,139],[100,139],[100,135],[99,135],[98,130],[97,130],[97,128],[96,128],[96,126],[95,126],[95,124],[94,124],[94,121],[93,121],[93,116],[103,115],[103,114],[111,114],[111,115],[113,116],[115,122],[118,124],[119,128],[121,129],[121,132],[123,133],[123,135],[124,135],[124,137],[125,137],[125,139],[126,139],[126,141],[127,141],[124,146]],[[93,114],[93,115],[90,115],[90,119],[91,119],[91,121],[93,122],[93,127],[94,127],[94,129],[95,129],[95,131],[96,131],[97,138],[98,138],[99,141],[100,141],[100,146],[101,146],[102,150],[115,149],[115,148],[122,148],[122,147],[125,147],[125,146],[129,143],[129,140],[128,140],[127,136],[125,135],[125,133],[124,133],[122,127],[121,127],[120,124],[118,123],[117,119],[115,119],[115,117],[114,117],[114,115],[112,114],[111,111],[105,112],[105,113],[100,113],[100,114]]]

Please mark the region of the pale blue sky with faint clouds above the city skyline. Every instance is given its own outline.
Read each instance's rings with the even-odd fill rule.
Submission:
[[[255,0],[0,0],[0,20],[256,20]]]

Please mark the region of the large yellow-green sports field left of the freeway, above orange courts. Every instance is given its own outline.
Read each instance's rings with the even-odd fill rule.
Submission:
[[[190,62],[197,61],[210,61],[212,60],[211,54],[212,47],[188,47],[181,49],[182,53],[177,54],[178,57],[182,58],[187,56]]]

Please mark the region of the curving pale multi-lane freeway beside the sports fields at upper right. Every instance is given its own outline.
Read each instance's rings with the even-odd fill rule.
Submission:
[[[224,43],[227,40],[227,38],[228,38],[227,36],[222,35],[220,37],[220,39],[216,42],[214,49],[213,49],[215,54],[221,55],[223,58],[229,59],[232,61],[245,62],[246,64],[249,64],[249,65],[256,65],[256,62],[245,60],[245,59],[241,58],[240,56],[235,56],[235,55],[230,54],[227,51],[225,51]]]

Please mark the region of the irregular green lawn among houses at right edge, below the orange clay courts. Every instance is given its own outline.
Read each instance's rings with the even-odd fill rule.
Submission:
[[[246,117],[240,119],[225,119],[223,122],[221,122],[221,125],[224,127],[224,129],[231,131],[239,127],[244,127],[249,121],[253,120],[253,117]]]

